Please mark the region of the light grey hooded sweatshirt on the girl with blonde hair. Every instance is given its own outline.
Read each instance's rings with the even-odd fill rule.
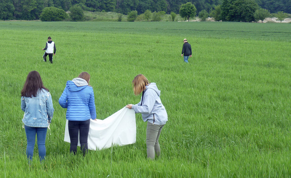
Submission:
[[[145,86],[145,91],[141,101],[132,105],[135,113],[141,113],[143,121],[152,124],[164,125],[168,121],[168,115],[160,99],[161,91],[155,83]]]

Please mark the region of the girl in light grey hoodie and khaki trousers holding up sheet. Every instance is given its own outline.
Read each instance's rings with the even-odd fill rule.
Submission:
[[[150,159],[160,155],[159,136],[162,128],[168,121],[168,115],[160,99],[161,91],[158,90],[155,83],[151,83],[144,75],[139,74],[132,80],[132,88],[135,96],[142,92],[141,101],[136,105],[126,105],[133,109],[135,113],[141,113],[146,128],[146,147],[147,157]]]

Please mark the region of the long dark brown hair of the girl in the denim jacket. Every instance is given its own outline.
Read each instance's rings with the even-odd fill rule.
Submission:
[[[38,71],[31,71],[27,75],[26,81],[24,83],[23,89],[21,91],[21,96],[25,97],[36,97],[40,89],[45,89],[49,91],[45,86],[42,84],[41,77]]]

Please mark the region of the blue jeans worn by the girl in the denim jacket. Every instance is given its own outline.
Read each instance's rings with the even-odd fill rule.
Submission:
[[[38,146],[38,155],[40,158],[40,162],[45,159],[45,138],[47,136],[47,127],[29,127],[24,125],[26,139],[27,139],[27,147],[26,147],[26,155],[27,159],[32,161],[33,150],[37,136],[37,146]]]

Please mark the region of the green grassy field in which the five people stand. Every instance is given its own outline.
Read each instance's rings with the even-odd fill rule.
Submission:
[[[0,34],[0,177],[291,177],[291,24],[0,21]],[[40,50],[48,36],[53,64]],[[29,166],[20,91],[32,70],[55,113],[46,160],[35,148]],[[58,98],[82,71],[91,75],[98,119],[139,102],[135,75],[157,83],[168,113],[159,159],[146,159],[140,114],[136,143],[84,159],[69,154]]]

